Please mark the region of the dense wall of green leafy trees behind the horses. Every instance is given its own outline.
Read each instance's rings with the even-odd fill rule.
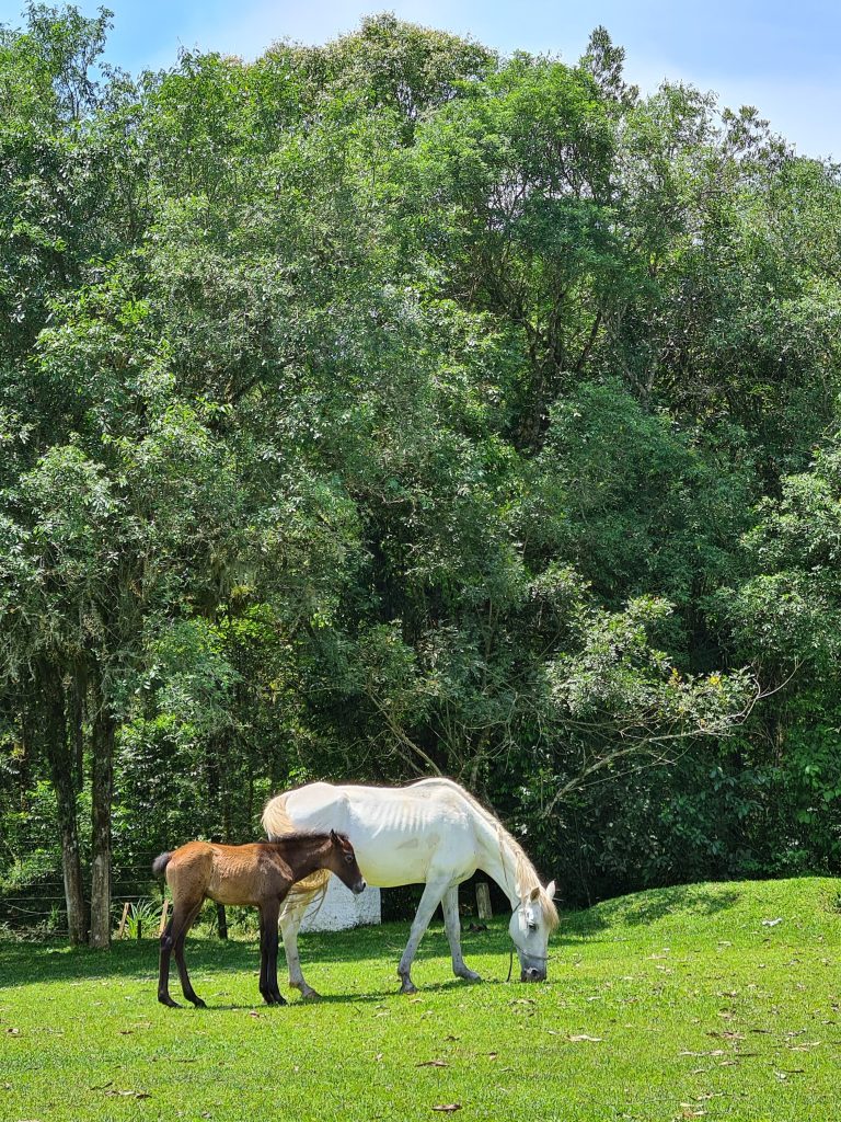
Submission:
[[[834,871],[841,175],[375,16],[0,30],[0,901],[460,780],[567,904]]]

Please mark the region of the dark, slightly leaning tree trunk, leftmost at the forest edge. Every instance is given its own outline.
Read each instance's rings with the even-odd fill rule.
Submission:
[[[55,666],[39,668],[38,680],[44,699],[44,749],[56,797],[58,833],[62,839],[62,872],[67,905],[70,941],[85,941],[87,922],[82,885],[82,862],[76,831],[76,789],[73,782],[73,754],[67,743],[67,716],[64,687]]]

